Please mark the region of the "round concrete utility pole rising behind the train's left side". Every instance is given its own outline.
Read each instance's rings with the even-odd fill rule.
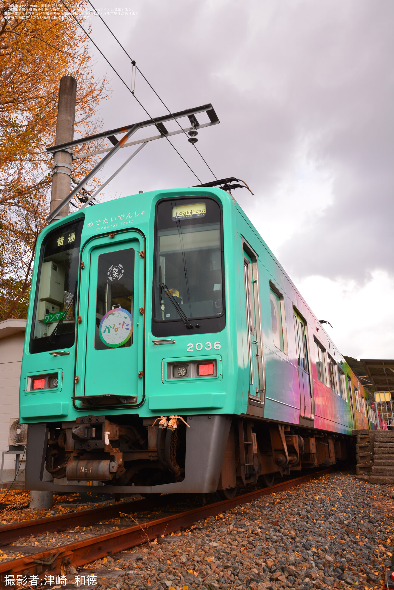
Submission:
[[[63,76],[60,80],[55,145],[70,142],[74,139],[76,97],[77,80],[73,76]],[[50,212],[58,207],[70,192],[72,164],[73,156],[70,152],[55,152]],[[68,215],[68,209],[67,204],[61,209],[55,219],[66,217]]]

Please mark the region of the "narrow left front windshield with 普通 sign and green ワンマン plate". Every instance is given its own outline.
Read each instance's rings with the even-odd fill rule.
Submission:
[[[83,219],[51,231],[41,247],[29,351],[73,346]]]

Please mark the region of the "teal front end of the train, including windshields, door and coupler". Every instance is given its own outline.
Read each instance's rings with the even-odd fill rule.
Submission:
[[[201,202],[189,207],[189,195]],[[243,367],[233,362],[237,322],[225,312],[226,305],[239,309],[237,267],[226,264],[237,256],[229,238],[234,222],[234,202],[225,192],[182,189],[89,207],[42,232],[21,372],[29,487],[59,489],[66,475],[73,489],[97,478],[114,484],[113,473],[118,484],[131,484],[131,459],[141,467],[133,485],[139,480],[144,490],[159,476],[166,489],[173,483],[179,491],[195,491],[198,480],[211,489],[212,478],[217,486],[228,415],[241,409],[244,378]],[[190,422],[176,419],[176,474],[166,469],[165,437],[162,464],[152,453],[159,430],[153,422],[162,414],[182,414]],[[97,423],[87,422],[91,415]],[[84,418],[96,429],[90,442],[75,428]],[[54,444],[45,471],[55,483],[40,484],[48,432]],[[120,436],[117,450],[114,435],[117,441]],[[201,473],[189,458],[193,477],[186,486],[190,453],[198,454]],[[217,456],[212,473],[201,453],[207,460]]]

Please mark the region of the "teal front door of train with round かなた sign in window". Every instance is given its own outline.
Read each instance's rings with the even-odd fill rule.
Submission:
[[[83,382],[76,386],[75,396],[94,396],[98,405],[142,399],[144,258],[139,251],[143,250],[142,235],[124,232],[110,240],[93,240],[83,253],[88,278],[86,301],[81,303],[87,319],[83,350],[78,334]]]

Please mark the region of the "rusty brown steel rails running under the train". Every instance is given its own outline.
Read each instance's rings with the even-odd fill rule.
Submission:
[[[44,579],[45,573],[56,575],[61,572],[61,569],[67,570],[71,565],[74,568],[86,565],[96,561],[97,559],[113,555],[119,551],[130,549],[141,543],[146,543],[164,534],[175,532],[179,529],[187,529],[192,526],[196,520],[206,519],[208,516],[217,516],[224,510],[229,510],[239,504],[247,504],[261,496],[267,496],[273,492],[288,490],[291,487],[299,486],[308,480],[320,477],[323,474],[331,473],[336,470],[336,467],[330,467],[324,470],[315,471],[312,474],[307,474],[301,477],[296,477],[291,480],[283,481],[271,487],[262,488],[260,490],[250,491],[240,496],[235,496],[229,500],[222,500],[212,504],[206,504],[192,510],[186,510],[170,516],[165,516],[160,519],[149,520],[142,525],[133,525],[116,530],[104,535],[97,535],[89,539],[69,543],[56,547],[54,549],[47,549],[34,555],[28,555],[22,558],[16,558],[0,565],[0,584],[4,585],[6,574],[14,574],[24,576],[38,576],[38,579]],[[165,498],[165,496],[163,497]],[[11,538],[13,540],[19,539],[23,532],[24,535],[37,534],[44,530],[54,531],[60,527],[75,526],[73,523],[81,523],[81,517],[86,519],[84,522],[97,522],[101,519],[109,519],[117,516],[119,512],[124,512],[127,507],[130,507],[133,512],[136,509],[146,510],[152,507],[152,500],[134,500],[131,502],[123,502],[121,504],[100,507],[93,510],[83,510],[77,513],[64,514],[61,517],[48,517],[45,519],[34,520],[30,522],[16,523],[15,525],[7,525],[3,532],[0,529],[0,540]],[[155,501],[155,506],[159,504]],[[90,513],[90,514],[86,514]],[[59,525],[58,523],[61,523]],[[57,526],[55,526],[57,525]],[[36,528],[35,528],[36,527]],[[46,528],[45,528],[46,527]],[[6,534],[9,537],[6,537]],[[1,537],[3,535],[3,537]],[[15,537],[17,535],[17,537]],[[8,540],[9,542],[9,540]]]

